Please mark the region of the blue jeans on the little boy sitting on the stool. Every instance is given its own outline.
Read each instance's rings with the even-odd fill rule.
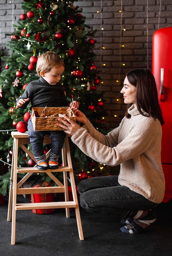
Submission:
[[[64,144],[64,139],[66,137],[65,132],[62,130],[58,131],[34,131],[31,118],[28,121],[28,135],[30,138],[31,148],[36,159],[39,159],[44,155],[43,140],[46,134],[49,134],[51,138],[51,155],[59,156],[61,149]]]

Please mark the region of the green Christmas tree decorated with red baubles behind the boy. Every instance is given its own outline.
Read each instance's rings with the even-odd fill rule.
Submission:
[[[4,156],[12,157],[13,140],[10,130],[15,130],[19,121],[24,120],[27,110],[16,109],[16,99],[23,94],[27,84],[37,80],[36,62],[40,54],[54,51],[63,58],[65,72],[61,82],[67,99],[79,101],[80,110],[87,115],[98,130],[106,128],[103,110],[103,92],[97,88],[101,83],[94,61],[94,34],[85,24],[79,7],[74,7],[74,1],[58,0],[24,0],[23,13],[15,27],[7,47],[11,56],[3,56],[5,69],[0,74],[1,96],[7,104],[0,104],[0,129],[3,130],[0,140],[0,150]],[[5,132],[7,130],[7,132]],[[107,171],[100,163],[88,159],[74,144],[71,144],[72,159],[77,159],[81,169],[95,175]],[[21,166],[27,166],[28,160],[23,152],[19,152]],[[92,174],[91,174],[92,175]]]

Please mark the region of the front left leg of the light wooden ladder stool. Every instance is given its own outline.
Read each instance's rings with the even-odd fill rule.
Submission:
[[[14,138],[14,168],[13,168],[13,206],[11,224],[11,245],[15,245],[16,240],[16,201],[17,201],[17,165],[18,165],[18,139]]]

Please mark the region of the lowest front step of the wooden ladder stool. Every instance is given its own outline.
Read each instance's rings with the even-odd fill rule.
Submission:
[[[54,209],[54,208],[76,208],[74,201],[69,202],[44,202],[44,203],[25,203],[16,204],[16,210],[31,210],[31,209]]]

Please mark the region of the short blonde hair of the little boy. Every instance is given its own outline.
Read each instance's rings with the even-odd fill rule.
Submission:
[[[43,70],[45,73],[50,72],[54,66],[63,66],[65,63],[62,58],[56,52],[45,52],[38,56],[36,64],[36,72],[40,76],[40,71]]]

